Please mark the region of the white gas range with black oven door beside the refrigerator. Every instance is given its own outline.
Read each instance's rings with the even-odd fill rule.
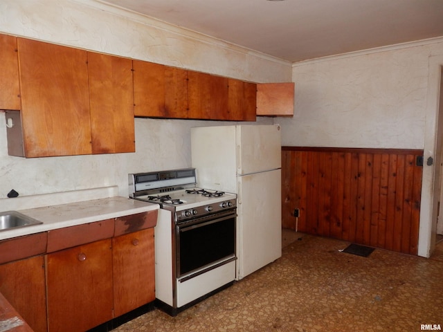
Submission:
[[[129,174],[129,196],[161,206],[155,228],[156,304],[170,315],[235,280],[237,195],[196,183],[193,168]]]

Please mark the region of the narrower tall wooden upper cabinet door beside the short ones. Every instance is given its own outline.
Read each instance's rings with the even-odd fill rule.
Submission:
[[[135,151],[132,60],[88,52],[93,154]]]

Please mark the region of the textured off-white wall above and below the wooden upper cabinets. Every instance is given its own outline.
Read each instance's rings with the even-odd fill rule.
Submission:
[[[291,64],[95,1],[2,0],[0,33],[143,59],[254,82],[289,82]],[[157,24],[158,26],[155,26]],[[261,118],[260,122],[272,123]],[[8,156],[0,112],[0,199],[118,185],[127,174],[190,167],[190,128],[232,122],[136,119],[136,153],[24,159]]]

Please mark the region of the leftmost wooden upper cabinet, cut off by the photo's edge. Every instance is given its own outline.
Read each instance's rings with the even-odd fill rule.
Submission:
[[[17,38],[0,34],[0,109],[20,109]]]

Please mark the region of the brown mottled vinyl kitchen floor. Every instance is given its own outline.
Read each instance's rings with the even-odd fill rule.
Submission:
[[[282,257],[177,317],[154,310],[113,331],[443,329],[443,242],[430,259],[284,230]]]

